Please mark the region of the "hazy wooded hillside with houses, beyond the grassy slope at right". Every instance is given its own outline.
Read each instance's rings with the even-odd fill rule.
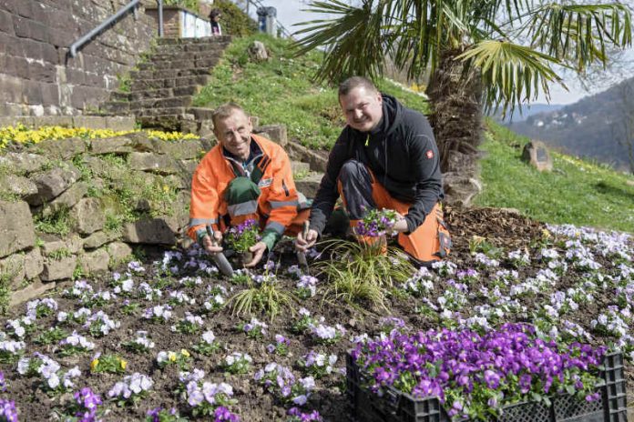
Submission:
[[[525,121],[506,126],[520,135],[541,139],[573,156],[596,159],[620,170],[629,170],[627,148],[616,139],[622,122],[634,116],[634,78],[596,95],[561,107],[556,111],[537,113]]]

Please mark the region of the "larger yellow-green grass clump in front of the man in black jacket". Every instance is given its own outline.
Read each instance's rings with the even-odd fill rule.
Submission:
[[[407,256],[393,247],[382,254],[368,253],[367,245],[349,240],[333,239],[322,245],[332,259],[317,262],[315,268],[330,284],[325,296],[336,301],[385,307],[387,291],[415,272]]]

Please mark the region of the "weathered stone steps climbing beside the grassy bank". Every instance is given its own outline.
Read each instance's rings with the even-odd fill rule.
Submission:
[[[208,133],[212,110],[192,106],[193,98],[230,41],[228,35],[159,39],[148,60],[129,73],[130,92],[114,92],[102,111],[135,116],[142,127]]]

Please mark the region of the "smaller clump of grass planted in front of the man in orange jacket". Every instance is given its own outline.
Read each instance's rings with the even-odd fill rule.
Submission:
[[[283,306],[291,307],[291,298],[275,275],[265,274],[250,276],[247,288],[231,296],[227,305],[231,306],[234,315],[253,315],[254,312],[264,311],[272,321]]]

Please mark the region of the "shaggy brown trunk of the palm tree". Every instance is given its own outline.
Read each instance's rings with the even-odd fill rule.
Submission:
[[[482,85],[476,70],[465,72],[455,60],[461,49],[446,50],[431,75],[426,94],[432,105],[430,123],[443,173],[476,173],[477,146],[482,137]]]

